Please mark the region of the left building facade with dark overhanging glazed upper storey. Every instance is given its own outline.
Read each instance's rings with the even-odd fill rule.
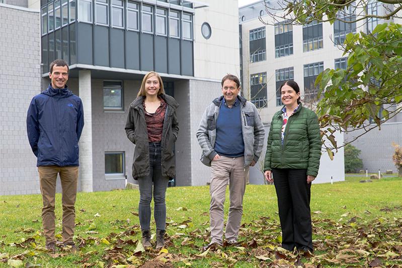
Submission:
[[[201,149],[195,133],[206,106],[221,95],[220,79],[226,73],[239,75],[237,1],[42,0],[23,5],[35,14],[36,21],[29,22],[36,29],[36,46],[31,47],[39,58],[30,71],[37,84],[30,83],[32,90],[24,93],[25,101],[18,104],[21,122],[15,123],[20,135],[16,143],[23,150],[15,151],[17,144],[7,148],[13,159],[20,159],[22,154],[28,159],[24,165],[30,173],[24,175],[21,164],[9,160],[0,176],[8,180],[6,175],[14,172],[16,179],[10,191],[0,189],[0,194],[39,193],[25,116],[32,97],[47,87],[48,66],[56,58],[69,63],[68,86],[84,105],[85,127],[79,141],[80,191],[121,189],[126,180],[134,182],[134,145],[127,139],[124,126],[129,104],[136,98],[143,75],[150,70],[162,76],[166,93],[180,104],[177,175],[172,184],[209,182],[209,168],[199,160]],[[18,27],[18,23],[10,27]],[[10,51],[5,52],[13,57]],[[26,58],[30,59],[28,55]],[[8,79],[2,77],[0,81]],[[2,86],[2,94],[6,91],[7,86]],[[14,120],[13,115],[6,116]],[[11,130],[6,133],[12,134]],[[32,182],[27,184],[27,192],[18,184],[23,177]]]

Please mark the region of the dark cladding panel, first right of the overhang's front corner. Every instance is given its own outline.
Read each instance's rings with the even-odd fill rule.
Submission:
[[[93,65],[93,40],[92,40],[92,24],[77,24],[77,63]]]

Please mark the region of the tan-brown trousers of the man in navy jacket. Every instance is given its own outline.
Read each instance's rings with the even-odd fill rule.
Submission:
[[[56,242],[54,236],[54,203],[56,179],[60,173],[63,205],[63,242],[72,242],[75,228],[75,197],[77,194],[78,166],[38,166],[42,193],[42,225],[46,242]]]

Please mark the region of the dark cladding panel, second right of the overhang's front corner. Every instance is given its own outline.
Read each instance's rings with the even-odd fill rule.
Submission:
[[[109,28],[94,26],[94,64],[109,66]]]

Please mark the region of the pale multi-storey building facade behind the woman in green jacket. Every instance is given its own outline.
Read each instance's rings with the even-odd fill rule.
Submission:
[[[269,8],[277,8],[276,2],[269,2],[268,5]],[[361,7],[351,7],[340,13],[338,18],[354,21],[358,14],[383,16],[392,9],[391,5],[370,0],[367,2],[366,11]],[[260,107],[263,121],[269,124],[273,114],[280,109],[282,104],[279,86],[284,80],[294,79],[300,86],[303,101],[314,104],[317,94],[314,81],[317,75],[326,68],[347,67],[347,55],[343,55],[343,51],[338,47],[344,42],[346,35],[360,31],[369,33],[378,24],[390,21],[401,23],[399,18],[389,21],[370,18],[350,24],[337,20],[332,25],[318,22],[290,25],[286,21],[274,21],[268,16],[264,1],[241,7],[239,35],[242,47],[240,72],[243,88],[256,106]],[[352,142],[352,145],[362,151],[360,157],[363,159],[364,168],[371,172],[378,172],[378,169],[396,170],[391,159],[391,143],[394,141],[402,144],[402,138],[398,134],[401,123],[402,114],[399,113],[384,123],[380,131],[372,130]],[[338,134],[338,144],[341,140],[351,141],[359,134],[361,131]],[[320,169],[317,181],[327,182],[330,173],[336,173],[336,176],[343,180],[343,162],[342,148],[336,153],[333,161],[329,160],[324,152],[321,156],[321,167],[323,163],[328,165],[326,170]],[[321,177],[323,180],[320,180]]]

